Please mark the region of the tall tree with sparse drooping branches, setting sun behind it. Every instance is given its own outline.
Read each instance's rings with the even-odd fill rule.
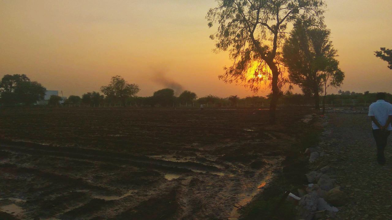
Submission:
[[[218,31],[210,38],[216,39],[216,51],[229,50],[233,60],[233,65],[225,67],[220,79],[226,83],[243,83],[255,93],[263,82],[268,81],[272,89],[270,122],[274,123],[276,104],[284,83],[279,51],[287,27],[296,20],[321,25],[325,3],[323,0],[217,2],[218,7],[207,13],[209,27],[219,23]]]

